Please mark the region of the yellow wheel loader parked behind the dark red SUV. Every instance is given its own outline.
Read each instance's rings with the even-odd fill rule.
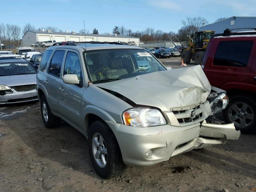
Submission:
[[[208,46],[211,36],[215,31],[198,31],[189,38],[189,43],[182,51],[183,62],[189,64],[191,59],[196,65],[201,65],[204,59],[204,53]]]

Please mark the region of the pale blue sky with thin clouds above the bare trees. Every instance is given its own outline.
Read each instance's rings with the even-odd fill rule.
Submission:
[[[256,16],[256,0],[3,0],[0,5],[0,22],[78,32],[85,20],[87,30],[100,34],[115,25],[177,32],[186,17],[212,23],[220,17]]]

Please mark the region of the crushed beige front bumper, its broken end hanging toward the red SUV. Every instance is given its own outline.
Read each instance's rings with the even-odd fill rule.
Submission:
[[[224,144],[227,139],[236,140],[240,136],[233,123],[217,125],[204,121],[183,127],[167,124],[143,128],[107,123],[116,136],[124,163],[131,166],[153,165],[195,148]],[[146,158],[149,151],[151,156]]]

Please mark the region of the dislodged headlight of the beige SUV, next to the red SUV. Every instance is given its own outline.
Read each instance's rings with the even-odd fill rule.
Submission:
[[[224,110],[228,105],[228,96],[226,93],[220,93],[214,100],[210,103],[212,109],[212,115]]]

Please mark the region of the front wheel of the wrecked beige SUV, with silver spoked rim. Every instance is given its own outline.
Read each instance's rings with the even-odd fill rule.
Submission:
[[[100,137],[103,139],[102,144],[99,142]],[[102,146],[101,151],[99,146]],[[93,122],[89,128],[88,151],[95,171],[104,179],[119,176],[126,167],[114,133],[102,120]],[[97,152],[100,153],[99,158],[95,157]]]

